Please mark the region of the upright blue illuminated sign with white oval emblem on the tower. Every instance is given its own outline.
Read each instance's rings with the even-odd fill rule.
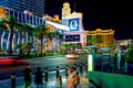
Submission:
[[[70,31],[79,31],[79,19],[70,19],[69,20]]]

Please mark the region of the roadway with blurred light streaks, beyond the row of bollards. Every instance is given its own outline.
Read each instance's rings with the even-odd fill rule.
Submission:
[[[27,63],[30,64],[32,72],[35,72],[37,67],[41,67],[42,70],[48,67],[49,70],[54,70],[57,66],[61,69],[65,68],[65,65],[73,66],[74,64],[80,65],[81,63],[86,64],[88,56],[80,55],[78,59],[68,59],[65,56],[50,56],[50,57],[41,57],[41,58],[32,58]],[[0,66],[0,80],[9,79],[11,73],[16,73],[17,76],[23,75],[24,64],[21,65],[10,65],[10,66]]]

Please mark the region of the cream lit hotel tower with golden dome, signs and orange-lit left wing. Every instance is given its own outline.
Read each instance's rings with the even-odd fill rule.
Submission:
[[[75,11],[71,13],[69,2],[63,3],[61,20],[59,15],[54,15],[54,18],[45,15],[43,19],[51,31],[58,30],[63,33],[63,44],[80,43],[82,46],[86,46],[86,32],[83,29],[82,13]]]

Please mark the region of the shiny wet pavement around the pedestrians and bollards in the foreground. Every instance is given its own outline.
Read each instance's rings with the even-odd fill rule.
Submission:
[[[76,70],[80,72],[80,68],[76,67]],[[62,76],[62,88],[68,88],[68,78],[65,77],[65,69],[60,69],[60,75]],[[88,73],[85,72],[85,68],[83,68],[83,72],[80,73],[81,77],[81,88],[89,88],[89,79],[88,79]],[[55,78],[55,70],[49,72],[49,78],[48,82],[43,81],[42,87],[40,88],[58,88],[57,87],[57,78]],[[0,80],[0,88],[11,88],[11,79],[4,79]],[[24,81],[23,77],[17,77],[16,78],[16,88],[24,88]],[[32,84],[31,88],[37,88],[37,85],[34,84],[34,75],[32,75]]]

